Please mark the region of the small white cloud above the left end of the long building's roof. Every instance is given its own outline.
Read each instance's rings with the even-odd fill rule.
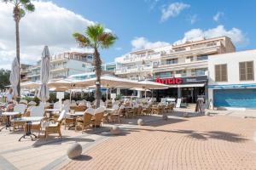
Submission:
[[[149,42],[145,37],[135,37],[131,41],[132,50],[159,48],[170,45],[168,42]]]

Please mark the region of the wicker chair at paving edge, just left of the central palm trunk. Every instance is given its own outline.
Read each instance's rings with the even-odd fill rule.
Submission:
[[[78,127],[81,127],[82,131],[84,131],[86,127],[90,127],[90,125],[92,124],[91,118],[93,116],[93,113],[94,109],[88,108],[86,111],[84,111],[84,117],[78,116],[76,119],[75,131],[77,131]]]

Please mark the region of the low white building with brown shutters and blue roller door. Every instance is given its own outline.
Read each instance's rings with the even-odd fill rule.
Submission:
[[[256,49],[211,55],[208,96],[214,107],[256,109]]]

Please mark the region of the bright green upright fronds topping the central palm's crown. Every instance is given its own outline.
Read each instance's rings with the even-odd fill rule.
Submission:
[[[86,29],[86,35],[94,42],[97,41],[98,37],[104,32],[104,26],[96,24],[88,26]]]

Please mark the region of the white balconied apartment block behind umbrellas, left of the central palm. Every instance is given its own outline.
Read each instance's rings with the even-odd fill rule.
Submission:
[[[54,54],[50,58],[50,79],[57,80],[67,78],[74,74],[81,74],[90,69],[93,56],[89,53],[67,52]],[[36,65],[30,65],[22,70],[26,72],[26,79],[21,77],[23,82],[40,80],[41,60]]]

